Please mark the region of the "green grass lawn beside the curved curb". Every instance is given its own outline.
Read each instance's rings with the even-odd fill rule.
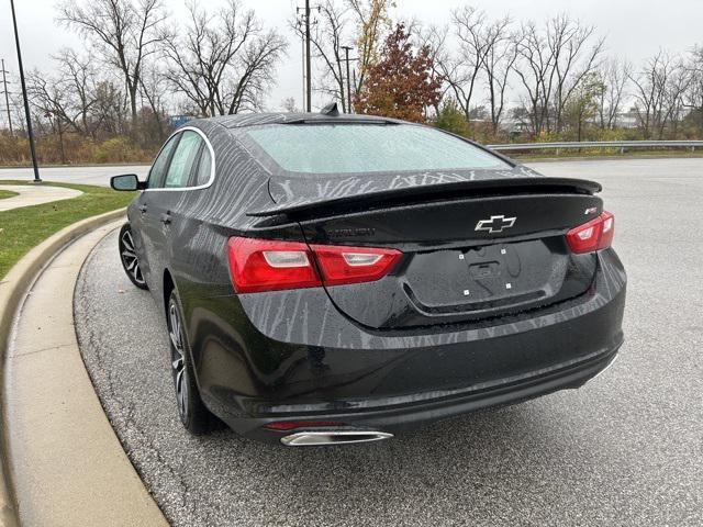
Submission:
[[[8,184],[37,184],[27,181],[5,181]],[[0,212],[0,278],[32,247],[71,223],[126,206],[135,192],[115,192],[90,184],[44,183],[83,192],[78,198],[42,205],[23,206]]]

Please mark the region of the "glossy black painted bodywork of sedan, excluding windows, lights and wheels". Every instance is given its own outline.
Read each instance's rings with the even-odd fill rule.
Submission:
[[[147,189],[129,208],[164,313],[178,291],[197,383],[215,415],[265,440],[280,436],[266,423],[312,417],[394,431],[574,388],[610,363],[623,340],[625,271],[612,249],[571,255],[563,242],[602,211],[598,183],[520,166],[304,181],[274,169],[244,136],[247,126],[325,121],[388,120],[193,121],[212,145],[213,180]],[[514,228],[475,231],[496,213],[517,217]],[[378,282],[236,294],[225,256],[233,235],[405,255]]]

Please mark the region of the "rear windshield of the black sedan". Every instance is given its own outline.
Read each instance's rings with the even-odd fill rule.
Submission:
[[[247,134],[291,172],[509,168],[500,158],[457,137],[411,124],[279,124]]]

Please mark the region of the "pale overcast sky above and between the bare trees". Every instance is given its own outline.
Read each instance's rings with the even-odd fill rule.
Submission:
[[[313,0],[314,2],[314,0]],[[57,24],[55,0],[15,0],[25,70],[49,70],[49,56],[65,46],[80,48],[81,41]],[[185,0],[166,0],[169,10],[179,16]],[[217,0],[200,0],[210,8]],[[278,86],[269,96],[268,105],[276,109],[287,97],[301,101],[301,48],[287,27],[287,20],[298,2],[293,0],[244,0],[254,8],[267,25],[278,26],[290,38],[289,57],[279,68]],[[299,3],[304,3],[300,0]],[[567,12],[588,24],[598,26],[606,36],[609,52],[633,63],[655,54],[660,47],[684,52],[695,43],[703,44],[703,0],[397,0],[393,19],[417,19],[425,23],[445,24],[453,9],[469,3],[498,18],[511,14],[515,20],[542,21]],[[5,69],[16,72],[16,55],[12,33],[9,0],[0,1],[0,58]],[[11,87],[16,90],[18,87]],[[322,101],[319,101],[321,103]]]

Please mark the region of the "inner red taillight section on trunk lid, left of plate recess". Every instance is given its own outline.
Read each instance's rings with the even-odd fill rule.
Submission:
[[[330,245],[313,245],[312,250],[325,285],[379,280],[388,274],[402,255],[395,249]]]

